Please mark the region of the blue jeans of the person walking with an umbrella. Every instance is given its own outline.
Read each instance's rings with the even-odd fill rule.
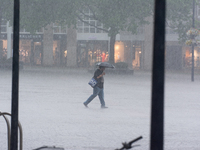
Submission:
[[[101,107],[104,107],[105,106],[104,91],[103,88],[101,89],[98,86],[93,88],[93,94],[84,102],[84,104],[88,105],[97,95],[99,96]]]

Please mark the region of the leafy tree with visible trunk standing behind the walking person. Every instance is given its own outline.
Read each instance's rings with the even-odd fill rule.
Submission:
[[[103,30],[110,36],[110,58],[109,61],[114,63],[114,45],[116,35],[120,31],[131,31],[136,33],[137,28],[143,24],[148,23],[145,19],[152,14],[152,1],[151,0],[74,0],[68,1],[70,9],[66,14],[66,9],[62,9],[66,6],[62,3],[62,7],[59,6],[60,17],[57,16],[58,22],[72,24],[77,23],[77,19],[93,26],[97,29]],[[86,13],[90,10],[92,15]],[[70,13],[70,17],[69,17]],[[68,17],[67,20],[66,17]],[[97,24],[92,24],[85,21],[84,18],[90,18],[97,20],[103,24],[103,28]]]

